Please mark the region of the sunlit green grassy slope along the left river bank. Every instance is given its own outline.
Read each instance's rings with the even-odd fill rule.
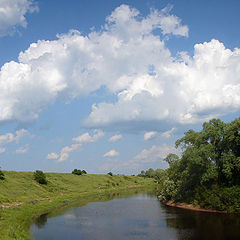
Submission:
[[[39,185],[31,172],[4,172],[0,181],[0,239],[30,239],[32,220],[43,212],[88,195],[153,186],[152,179],[122,175],[46,173],[47,185]]]

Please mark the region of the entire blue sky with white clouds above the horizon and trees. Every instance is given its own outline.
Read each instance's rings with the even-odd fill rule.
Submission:
[[[137,174],[240,113],[238,0],[0,0],[0,166]]]

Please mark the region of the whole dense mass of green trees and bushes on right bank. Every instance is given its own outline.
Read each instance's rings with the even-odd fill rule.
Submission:
[[[176,141],[181,158],[170,154],[162,200],[184,201],[219,210],[240,210],[240,119],[212,119],[199,132]]]

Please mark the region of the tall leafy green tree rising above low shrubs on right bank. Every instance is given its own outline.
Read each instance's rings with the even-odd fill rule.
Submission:
[[[231,123],[219,119],[205,122],[201,131],[187,131],[176,141],[176,147],[183,150],[181,158],[175,154],[165,158],[168,181],[176,189],[175,199],[191,201],[197,186],[210,189],[240,185],[239,118]],[[163,186],[167,188],[167,184]]]

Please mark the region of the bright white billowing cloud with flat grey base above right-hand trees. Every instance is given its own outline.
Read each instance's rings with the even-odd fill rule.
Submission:
[[[155,75],[131,76],[116,103],[93,105],[88,125],[194,124],[239,110],[240,49],[226,49],[218,40],[196,44],[194,49],[192,58],[184,54],[181,59],[159,58],[154,62]]]

